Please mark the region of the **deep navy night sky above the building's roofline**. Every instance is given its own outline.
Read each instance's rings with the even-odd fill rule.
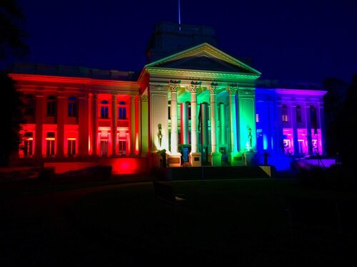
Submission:
[[[18,1],[31,63],[141,70],[155,23],[178,21],[178,0]],[[181,0],[181,23],[213,26],[218,48],[251,58],[262,78],[357,73],[356,0]]]

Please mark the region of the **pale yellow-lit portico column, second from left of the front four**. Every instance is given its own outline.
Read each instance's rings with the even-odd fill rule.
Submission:
[[[201,82],[191,82],[191,153],[190,162],[193,167],[201,166],[201,153],[197,152],[197,90]]]

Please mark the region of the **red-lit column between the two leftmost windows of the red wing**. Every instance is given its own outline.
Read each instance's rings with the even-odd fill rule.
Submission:
[[[35,132],[35,153],[37,159],[42,157],[42,138],[44,123],[44,95],[36,95],[36,132]]]

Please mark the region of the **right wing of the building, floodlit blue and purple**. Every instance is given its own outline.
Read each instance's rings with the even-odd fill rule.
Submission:
[[[323,155],[325,90],[256,88],[256,136],[259,160],[289,169],[291,157]],[[311,112],[313,110],[313,112]]]

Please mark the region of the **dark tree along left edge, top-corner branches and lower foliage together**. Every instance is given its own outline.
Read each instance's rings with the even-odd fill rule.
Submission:
[[[16,0],[0,1],[0,67],[5,66],[6,60],[22,58],[29,53],[29,47],[24,42],[27,35],[21,28],[23,21],[24,15]],[[23,104],[14,80],[1,70],[0,90],[3,99],[0,105],[0,164],[4,166],[19,147]]]

